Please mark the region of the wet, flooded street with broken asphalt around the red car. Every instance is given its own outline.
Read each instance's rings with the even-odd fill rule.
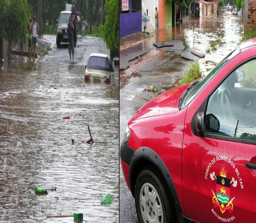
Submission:
[[[166,37],[166,41],[182,41],[185,49],[156,49],[153,43],[161,42],[163,36]],[[184,22],[182,26],[163,29],[155,32],[153,37],[143,43],[120,51],[120,64],[124,54],[129,57],[129,54],[134,52],[148,52],[131,61],[129,68],[120,71],[120,143],[127,122],[143,104],[156,95],[178,86],[179,80],[190,67],[190,61],[181,58],[182,52],[196,50],[204,53],[206,56],[199,59],[199,64],[203,75],[206,75],[224,56],[235,49],[242,36],[242,15],[233,16],[230,11],[222,11],[219,18],[204,16],[195,21]],[[221,40],[216,46],[217,50],[206,53],[217,38]],[[145,91],[150,84],[162,86],[161,91]],[[134,198],[127,189],[120,165],[120,223],[138,222]]]

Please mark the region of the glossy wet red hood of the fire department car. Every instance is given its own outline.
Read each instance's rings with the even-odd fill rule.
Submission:
[[[180,96],[190,84],[185,84],[177,88],[171,89],[150,100],[134,114],[131,121],[178,112]]]

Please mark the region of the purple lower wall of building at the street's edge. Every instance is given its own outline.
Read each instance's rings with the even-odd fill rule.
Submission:
[[[141,32],[141,12],[119,14],[120,38]]]

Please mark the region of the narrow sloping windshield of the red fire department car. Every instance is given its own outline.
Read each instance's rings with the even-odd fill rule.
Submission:
[[[179,109],[184,109],[194,98],[195,96],[204,88],[204,86],[212,79],[212,77],[222,69],[222,67],[230,61],[234,56],[239,54],[239,48],[236,47],[234,51],[228,54],[220,63],[218,63],[214,69],[208,73],[202,81],[198,82],[198,80],[193,84],[193,88],[190,88],[181,95],[182,103],[179,106]]]

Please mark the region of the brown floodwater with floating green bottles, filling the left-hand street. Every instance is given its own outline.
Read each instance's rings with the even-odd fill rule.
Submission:
[[[36,68],[0,70],[0,222],[118,222],[118,84],[86,83],[76,64]],[[46,183],[57,190],[36,195]]]

